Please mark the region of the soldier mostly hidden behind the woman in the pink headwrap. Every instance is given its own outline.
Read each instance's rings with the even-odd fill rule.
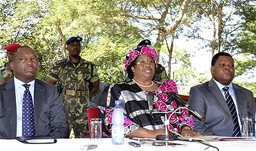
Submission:
[[[143,45],[151,45],[151,41],[143,40],[143,41],[140,41],[140,43],[138,44],[138,46],[143,46]],[[157,64],[154,80],[157,82],[164,82],[165,80],[168,80],[166,71],[161,64]]]

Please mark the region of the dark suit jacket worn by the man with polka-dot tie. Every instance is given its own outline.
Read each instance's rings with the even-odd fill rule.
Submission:
[[[35,80],[34,92],[36,135],[67,137],[67,125],[56,87]],[[0,138],[15,138],[17,111],[14,80],[0,85]]]

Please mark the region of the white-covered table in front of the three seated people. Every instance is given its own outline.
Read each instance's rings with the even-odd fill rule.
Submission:
[[[102,138],[102,143],[98,145],[98,148],[93,149],[92,151],[108,151],[108,150],[118,150],[118,151],[132,151],[132,150],[140,150],[140,151],[161,151],[161,150],[179,150],[179,151],[200,151],[205,150],[207,146],[202,145],[200,143],[195,142],[185,142],[185,141],[173,141],[175,143],[183,143],[186,144],[186,147],[153,147],[153,146],[145,146],[141,145],[141,147],[132,147],[127,143],[129,141],[128,138],[125,138],[124,145],[113,145],[111,143],[111,138]],[[251,140],[239,140],[239,141],[210,141],[211,145],[218,147],[220,151],[236,151],[236,150],[246,150],[246,151],[255,151],[256,150],[256,139],[253,138]],[[26,150],[26,151],[51,151],[51,150],[69,150],[69,151],[81,151],[81,145],[88,145],[90,144],[89,138],[77,138],[77,139],[58,139],[57,143],[54,144],[25,144],[21,143],[17,140],[1,140],[0,139],[0,150]],[[168,148],[168,149],[166,149]],[[215,150],[216,148],[207,148],[206,151]]]

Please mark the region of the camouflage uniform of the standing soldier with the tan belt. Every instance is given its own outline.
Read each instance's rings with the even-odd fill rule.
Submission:
[[[93,69],[92,69],[93,68]],[[63,98],[64,110],[67,117],[68,134],[73,129],[76,138],[84,138],[88,135],[87,108],[90,107],[89,82],[99,80],[95,65],[92,62],[81,59],[75,66],[69,57],[57,61],[49,71],[48,78],[61,83],[63,90],[60,96]],[[67,90],[83,90],[84,96],[67,95]]]

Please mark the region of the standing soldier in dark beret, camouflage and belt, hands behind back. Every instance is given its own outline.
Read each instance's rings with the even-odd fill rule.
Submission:
[[[75,138],[89,134],[86,110],[90,107],[90,97],[99,91],[100,83],[95,65],[80,57],[80,41],[79,36],[67,40],[69,57],[57,61],[45,78],[45,82],[61,84],[68,134],[73,129]]]

